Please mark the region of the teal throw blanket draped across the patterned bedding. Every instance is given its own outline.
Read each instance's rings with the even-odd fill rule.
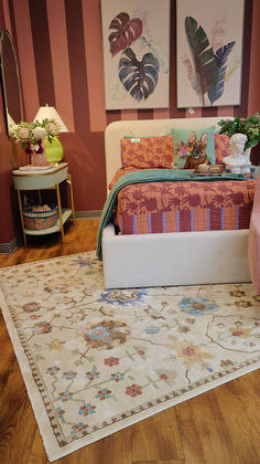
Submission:
[[[254,167],[252,172],[253,178],[257,178],[258,167]],[[102,213],[99,221],[99,229],[97,234],[97,257],[102,260],[102,231],[106,225],[109,223],[110,219],[113,215],[113,212],[117,208],[117,198],[118,192],[130,183],[143,183],[143,182],[176,182],[176,181],[186,181],[186,180],[196,180],[201,182],[205,181],[215,181],[215,180],[245,180],[243,175],[215,175],[215,176],[199,176],[195,175],[193,170],[189,169],[144,169],[142,171],[128,172],[121,176],[115,183],[112,190],[110,191],[106,203],[102,209]]]

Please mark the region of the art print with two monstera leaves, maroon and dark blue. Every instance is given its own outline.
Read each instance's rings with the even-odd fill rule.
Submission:
[[[101,0],[106,109],[167,108],[170,0]]]

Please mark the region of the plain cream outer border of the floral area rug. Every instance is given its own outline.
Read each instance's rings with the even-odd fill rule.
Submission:
[[[88,252],[86,252],[88,253]],[[82,253],[80,253],[82,254]],[[78,255],[78,253],[74,254],[74,255]],[[69,255],[73,256],[73,255]],[[66,257],[66,256],[59,256],[61,257]],[[58,257],[57,257],[58,259]],[[50,259],[53,260],[53,259]],[[42,261],[47,261],[47,260],[42,260]],[[24,264],[31,264],[31,263],[24,263]],[[35,262],[33,262],[32,264],[35,264]],[[11,266],[11,267],[15,267],[15,266]],[[230,285],[230,284],[227,284]],[[0,285],[0,308],[2,310],[2,315],[3,315],[3,319],[8,329],[8,335],[10,337],[10,340],[12,342],[12,348],[14,350],[18,363],[19,363],[19,368],[20,371],[22,373],[23,377],[23,381],[25,383],[25,388],[26,388],[26,392],[32,405],[32,410],[34,413],[34,416],[36,419],[36,424],[39,426],[40,430],[40,434],[42,436],[43,440],[43,444],[47,454],[47,457],[50,460],[50,462],[56,461],[58,458],[62,458],[71,453],[73,453],[74,451],[77,451],[84,446],[87,446],[91,443],[95,443],[106,436],[109,436],[113,433],[117,433],[130,425],[133,425],[138,422],[140,422],[141,420],[145,420],[154,414],[158,414],[159,412],[162,412],[169,408],[172,408],[176,404],[180,404],[184,401],[187,401],[189,399],[193,399],[202,393],[205,393],[206,391],[210,391],[214,388],[220,387],[221,384],[225,384],[231,380],[235,380],[241,376],[245,376],[246,373],[252,372],[257,369],[260,368],[260,361],[256,361],[253,363],[251,363],[250,366],[245,366],[241,367],[237,370],[235,370],[234,372],[227,373],[225,375],[225,378],[217,378],[214,380],[208,381],[206,384],[199,386],[195,389],[193,389],[192,391],[187,391],[185,393],[182,394],[182,397],[177,397],[174,399],[169,399],[166,400],[164,403],[160,403],[156,405],[153,405],[151,408],[149,408],[148,410],[141,410],[139,412],[137,412],[134,415],[131,415],[130,418],[126,418],[123,420],[119,422],[117,422],[117,426],[115,428],[115,424],[108,424],[106,428],[106,431],[100,431],[97,430],[95,432],[91,433],[91,437],[90,436],[83,436],[80,439],[78,439],[75,442],[72,442],[67,445],[64,445],[62,449],[58,446],[58,444],[56,444],[54,442],[53,439],[53,430],[51,428],[50,424],[50,418],[45,411],[45,405],[43,403],[41,393],[39,392],[37,386],[35,386],[35,380],[32,376],[32,370],[26,355],[24,354],[19,334],[18,334],[18,329],[13,323],[12,319],[12,315],[10,313],[10,309],[8,307],[7,304],[7,299],[3,293],[3,289]],[[31,391],[32,387],[31,383],[33,384],[33,389],[35,387],[35,391]],[[142,419],[139,418],[139,415],[142,415]],[[50,439],[50,443],[46,442],[46,440]]]

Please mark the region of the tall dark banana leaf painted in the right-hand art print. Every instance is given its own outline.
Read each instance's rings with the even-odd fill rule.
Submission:
[[[205,105],[205,93],[215,87],[218,80],[217,59],[209,48],[208,38],[204,29],[197,25],[197,21],[192,17],[185,18],[185,31],[193,54],[197,88]]]

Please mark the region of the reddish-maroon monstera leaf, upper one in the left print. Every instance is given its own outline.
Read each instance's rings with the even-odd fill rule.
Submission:
[[[115,29],[115,32],[111,32],[108,38],[110,52],[115,56],[142,35],[143,25],[139,18],[130,20],[128,13],[121,12],[112,19],[109,29]]]

